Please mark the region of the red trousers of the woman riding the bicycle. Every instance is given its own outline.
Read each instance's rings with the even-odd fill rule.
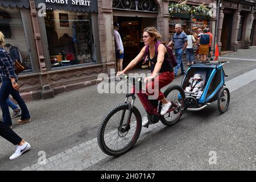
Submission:
[[[170,84],[173,80],[174,80],[174,72],[160,73],[160,75],[155,77],[154,81],[148,82],[146,85],[147,95],[154,97],[154,98],[150,98],[150,97],[148,98],[157,99],[159,101],[162,100],[164,98],[164,94],[160,91],[160,89]]]

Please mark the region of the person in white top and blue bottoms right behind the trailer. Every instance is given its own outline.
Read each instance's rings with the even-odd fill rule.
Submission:
[[[196,42],[196,39],[191,34],[190,30],[187,30],[187,38],[188,38],[188,46],[186,48],[186,56],[187,56],[187,65],[190,66],[194,64],[194,50],[193,50],[193,43]]]

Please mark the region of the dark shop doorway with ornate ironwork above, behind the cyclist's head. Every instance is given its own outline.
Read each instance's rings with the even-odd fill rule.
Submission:
[[[118,22],[121,25],[119,34],[125,49],[123,68],[143,48],[141,34],[144,28],[151,26],[159,30],[162,25],[162,20],[159,18],[162,6],[159,2],[162,3],[157,0],[113,0],[113,22]],[[143,66],[143,68],[147,67],[148,65]],[[142,68],[142,64],[138,64],[137,68]]]

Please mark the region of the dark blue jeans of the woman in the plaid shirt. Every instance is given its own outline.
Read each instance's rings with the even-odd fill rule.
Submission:
[[[19,92],[13,88],[11,80],[9,78],[3,78],[2,86],[0,89],[0,105],[3,113],[3,123],[5,123],[7,126],[12,125],[9,107],[6,102],[10,94],[13,96],[14,100],[18,102],[18,105],[22,111],[20,119],[23,120],[30,118],[30,113],[28,112],[27,106],[22,97],[20,97]]]

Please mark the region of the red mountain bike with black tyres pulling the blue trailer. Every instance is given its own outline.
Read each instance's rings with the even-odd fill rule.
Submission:
[[[185,93],[181,86],[171,85],[166,89],[164,96],[172,105],[165,115],[160,115],[162,102],[149,100],[146,92],[142,92],[144,77],[133,78],[125,75],[123,78],[132,84],[131,93],[126,94],[123,104],[113,107],[102,118],[97,134],[98,145],[110,156],[120,156],[131,150],[141,134],[142,116],[134,106],[135,94],[146,110],[148,124],[161,121],[164,125],[171,126],[179,122],[183,114]],[[135,85],[139,85],[139,92],[135,93]]]

